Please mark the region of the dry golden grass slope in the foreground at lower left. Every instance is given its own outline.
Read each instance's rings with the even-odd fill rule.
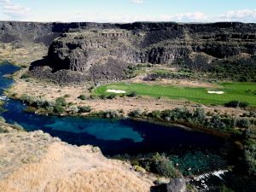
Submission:
[[[154,185],[98,148],[68,145],[42,131],[1,133],[0,160],[1,192],[139,192]]]

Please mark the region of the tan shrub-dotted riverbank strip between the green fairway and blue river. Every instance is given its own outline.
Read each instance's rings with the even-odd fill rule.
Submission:
[[[15,77],[17,77],[17,74],[15,75]],[[186,108],[186,110],[189,110],[193,113],[193,111],[195,111],[196,108],[201,108],[204,110],[204,115],[207,114],[208,116],[208,118],[204,117],[204,119],[213,118],[215,116],[222,117],[222,119],[227,119],[228,121],[230,121],[229,124],[232,124],[233,119],[239,119],[239,116],[243,117],[240,119],[248,121],[247,117],[249,117],[250,115],[249,112],[247,112],[246,110],[242,110],[240,108],[206,107],[202,105],[195,105],[191,102],[172,101],[168,99],[155,99],[141,96],[114,96],[113,98],[105,99],[94,98],[90,97],[90,90],[87,90],[87,95],[83,95],[85,99],[82,99],[80,95],[82,92],[79,92],[77,86],[73,86],[73,88],[61,88],[60,86],[55,85],[55,94],[53,94],[49,91],[50,89],[52,89],[52,86],[38,85],[38,83],[36,82],[27,83],[23,79],[15,80],[15,85],[13,85],[9,90],[7,90],[6,94],[11,98],[21,100],[22,102],[26,102],[29,106],[29,108],[26,109],[27,112],[37,113],[41,115],[103,116],[107,118],[127,118],[132,116],[131,113],[140,111],[140,113],[142,114],[140,114],[138,118],[143,119],[143,121],[157,122],[162,125],[171,126],[173,124],[184,125],[189,128],[192,128],[195,131],[201,131],[213,136],[226,138],[232,135],[241,136],[241,133],[242,131],[244,131],[244,129],[236,129],[234,128],[234,125],[229,125],[230,128],[234,128],[230,130],[218,130],[215,129],[214,127],[212,127],[213,129],[209,129],[209,127],[207,127],[206,125],[198,125],[187,120],[166,120],[156,117],[150,118],[148,117],[148,114],[156,112],[160,113],[164,112],[165,110],[176,110],[177,108]],[[30,84],[28,86],[34,84],[34,86],[32,86],[34,89],[29,89],[30,87],[26,87],[26,89],[17,90],[17,87],[23,87],[18,86],[17,84],[23,84],[25,86],[28,84]],[[41,91],[36,91],[35,87],[36,89],[41,89]],[[72,89],[76,91],[71,91]],[[64,92],[62,92],[63,90]],[[25,91],[26,94],[24,94]],[[41,93],[43,94],[43,92],[44,95],[40,95]],[[63,96],[63,94],[65,95]],[[61,103],[57,104],[57,101],[58,103],[59,101],[61,101]],[[221,119],[217,120],[219,121]],[[212,122],[211,126],[219,126],[214,124],[215,123]]]

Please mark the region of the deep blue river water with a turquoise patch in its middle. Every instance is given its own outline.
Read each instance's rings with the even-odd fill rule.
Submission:
[[[5,74],[19,70],[9,63],[0,65],[0,96],[13,84]],[[197,131],[186,131],[176,126],[165,127],[131,119],[102,119],[83,117],[40,116],[26,113],[26,105],[10,99],[1,115],[9,123],[17,122],[26,131],[43,130],[62,141],[102,149],[103,154],[145,154],[151,152],[185,153],[188,150],[218,150],[223,141]],[[107,109],[107,108],[106,108]]]

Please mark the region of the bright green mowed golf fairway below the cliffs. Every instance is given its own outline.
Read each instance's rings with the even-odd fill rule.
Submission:
[[[218,84],[218,88],[118,83],[97,87],[94,93],[98,96],[108,96],[111,93],[108,93],[107,90],[125,90],[126,94],[136,92],[138,96],[160,96],[202,104],[224,104],[230,101],[240,101],[248,102],[251,106],[256,106],[255,83],[221,83]],[[224,91],[224,94],[209,94],[207,93],[208,90]]]

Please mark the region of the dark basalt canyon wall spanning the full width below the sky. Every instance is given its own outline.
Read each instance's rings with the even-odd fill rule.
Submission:
[[[49,47],[47,57],[32,64],[34,76],[125,79],[125,68],[135,63],[168,64],[193,53],[256,55],[256,24],[0,22],[0,42],[15,41]]]

